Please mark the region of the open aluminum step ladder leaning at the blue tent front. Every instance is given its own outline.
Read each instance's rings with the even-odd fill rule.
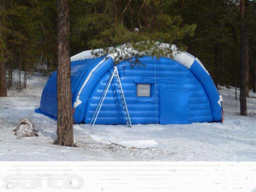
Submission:
[[[116,81],[117,81],[117,84],[118,84],[118,90],[119,90],[119,94],[120,94],[120,98],[121,98],[121,102],[122,102],[122,106],[123,106],[123,110],[124,110],[124,116],[125,116],[125,119],[126,119],[126,124],[127,124],[127,126],[132,127],[130,115],[129,115],[128,108],[127,108],[127,105],[126,105],[126,101],[125,101],[125,98],[124,98],[124,92],[123,92],[123,89],[122,89],[122,85],[121,85],[121,82],[120,82],[120,78],[119,78],[119,74],[118,74],[118,70],[117,70],[116,66],[114,66],[114,71],[113,71],[111,77],[109,78],[108,83],[106,84],[104,92],[103,92],[103,94],[100,98],[100,102],[98,103],[98,106],[97,106],[97,108],[94,112],[94,115],[92,116],[92,120],[90,121],[91,126],[94,126],[94,124],[96,122],[96,119],[97,119],[98,114],[100,112],[100,108],[101,108],[101,106],[104,102],[104,99],[106,97],[106,94],[108,92],[110,84],[111,84],[112,80],[114,79],[114,77],[116,77]]]

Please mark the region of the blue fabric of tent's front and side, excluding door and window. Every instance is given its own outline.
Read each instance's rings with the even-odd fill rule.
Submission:
[[[90,122],[108,78],[111,75],[113,60],[108,58],[100,64],[102,59],[84,59],[74,61],[71,64],[73,105],[76,102],[79,90],[91,73],[88,82],[86,82],[80,93],[79,100],[82,103],[75,108],[74,120],[76,123]],[[160,57],[158,60],[152,56],[144,56],[140,59],[140,62],[142,65],[135,66],[134,68],[130,68],[130,64],[126,61],[118,64],[118,71],[121,76],[121,83],[132,124],[161,123],[159,95],[166,94],[160,92],[160,86],[163,85],[188,86],[189,122],[218,122],[222,119],[222,109],[220,104],[218,104],[220,98],[218,91],[210,75],[196,60],[194,60],[189,69],[170,58]],[[91,72],[93,69],[95,70]],[[137,83],[149,83],[151,85],[149,98],[136,97]],[[118,87],[116,80],[114,80],[102,105],[96,124],[126,123],[118,94]],[[172,95],[170,94],[170,96]],[[54,72],[42,93],[40,111],[56,117],[56,100],[56,72]],[[167,123],[178,122],[170,120]],[[164,124],[166,124],[166,121]]]

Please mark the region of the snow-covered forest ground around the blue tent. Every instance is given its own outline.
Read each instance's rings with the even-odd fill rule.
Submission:
[[[224,123],[188,125],[106,126],[74,125],[75,148],[54,145],[56,121],[34,112],[40,105],[47,78],[32,76],[27,88],[8,91],[0,98],[0,160],[5,161],[255,161],[256,94],[250,92],[248,116],[239,116],[234,88],[221,88]],[[238,90],[239,91],[239,90]],[[239,92],[238,92],[239,96]],[[14,130],[21,118],[30,118],[39,136],[18,138]],[[156,140],[164,148],[133,149],[95,142],[89,135],[128,140]]]

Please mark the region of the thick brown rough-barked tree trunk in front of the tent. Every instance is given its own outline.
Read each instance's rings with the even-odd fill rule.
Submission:
[[[58,0],[57,144],[74,146],[70,81],[69,0]]]

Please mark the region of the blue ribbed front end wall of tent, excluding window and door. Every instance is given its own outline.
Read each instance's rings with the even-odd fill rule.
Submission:
[[[195,76],[174,60],[169,58],[160,58],[155,60],[152,56],[144,56],[140,59],[141,65],[130,67],[126,61],[118,64],[119,72],[124,70],[124,79],[121,80],[126,103],[130,113],[132,124],[154,124],[160,122],[159,92],[160,85],[188,85],[189,88],[189,121],[190,122],[211,122],[212,112],[210,101],[204,91],[204,88],[195,78]],[[155,63],[156,62],[156,97],[155,97]],[[105,69],[106,70],[106,69]],[[100,100],[102,92],[111,75],[113,68],[110,66],[108,72],[104,72],[102,78],[98,78],[97,84],[93,85],[93,91],[86,101],[84,112],[84,122],[89,123],[96,106]],[[102,69],[100,70],[102,72]],[[97,70],[98,72],[98,70]],[[95,73],[95,75],[97,74]],[[122,72],[121,72],[122,73]],[[101,76],[98,75],[98,76]],[[121,74],[122,76],[122,74]],[[136,97],[136,83],[150,83],[151,97]],[[89,86],[89,85],[88,85]],[[172,93],[175,94],[175,93]],[[171,95],[170,95],[171,96]],[[116,99],[114,99],[116,98]],[[156,103],[155,103],[156,101]],[[178,104],[177,104],[178,105]],[[75,117],[76,120],[76,117]],[[112,83],[106,99],[102,104],[101,111],[96,124],[125,124],[124,112],[120,96],[118,96],[118,86],[116,82]],[[177,123],[177,121],[169,122]],[[182,122],[180,122],[182,123]]]

